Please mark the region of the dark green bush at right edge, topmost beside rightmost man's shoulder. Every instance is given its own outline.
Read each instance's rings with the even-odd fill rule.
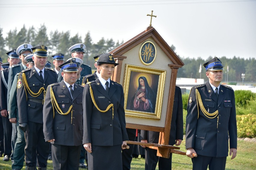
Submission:
[[[248,106],[248,101],[256,99],[256,94],[251,92],[250,90],[236,90],[234,92],[236,107],[246,108]]]

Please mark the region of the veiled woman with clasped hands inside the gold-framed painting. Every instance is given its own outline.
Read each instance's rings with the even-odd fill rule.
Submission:
[[[156,94],[148,85],[146,77],[139,77],[138,82],[139,87],[133,98],[130,100],[130,110],[154,113],[156,107]]]

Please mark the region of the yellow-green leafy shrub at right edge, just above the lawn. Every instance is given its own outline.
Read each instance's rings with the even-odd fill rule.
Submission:
[[[256,137],[256,115],[237,115],[237,137]]]

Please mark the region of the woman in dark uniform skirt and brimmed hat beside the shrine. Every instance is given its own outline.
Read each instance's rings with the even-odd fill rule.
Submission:
[[[84,87],[83,143],[89,170],[122,169],[121,149],[128,136],[123,87],[110,80],[116,65],[111,54],[102,54],[97,62],[100,76]]]

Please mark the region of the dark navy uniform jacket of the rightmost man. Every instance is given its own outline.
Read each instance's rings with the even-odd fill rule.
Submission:
[[[200,109],[197,104],[196,89],[200,93],[206,111],[209,109],[209,113],[214,113],[218,110],[218,115],[215,118],[206,117]],[[191,88],[187,103],[186,149],[194,148],[197,154],[203,156],[227,157],[228,140],[230,140],[230,148],[237,147],[236,107],[233,89],[220,85],[217,99],[209,81]]]

